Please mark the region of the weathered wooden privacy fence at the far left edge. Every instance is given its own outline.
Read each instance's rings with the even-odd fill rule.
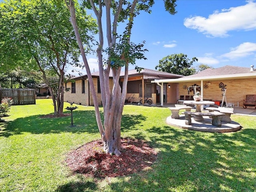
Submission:
[[[36,104],[35,89],[3,89],[0,88],[0,100],[5,97],[13,99],[14,105]]]

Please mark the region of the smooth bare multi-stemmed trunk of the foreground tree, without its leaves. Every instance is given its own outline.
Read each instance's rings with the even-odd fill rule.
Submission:
[[[121,154],[120,152],[121,150],[121,118],[122,118],[122,111],[124,108],[124,100],[126,97],[126,86],[128,81],[128,63],[126,64],[126,67],[125,67],[125,77],[124,77],[124,82],[122,87],[123,88],[122,95],[121,95],[121,88],[119,85],[121,67],[119,67],[117,70],[115,68],[112,68],[114,87],[112,92],[110,92],[109,72],[111,70],[111,67],[110,67],[110,64],[108,64],[107,68],[103,71],[103,62],[102,62],[102,47],[103,47],[103,31],[102,31],[102,21],[101,21],[102,4],[101,4],[101,1],[99,1],[99,8],[97,9],[94,5],[93,0],[90,0],[94,13],[97,16],[98,29],[99,29],[99,45],[97,49],[97,55],[98,55],[98,64],[99,64],[99,70],[100,70],[100,88],[101,88],[102,104],[104,108],[104,128],[103,128],[100,120],[99,109],[97,107],[98,102],[96,98],[94,84],[92,82],[92,76],[90,74],[90,68],[88,66],[88,62],[84,54],[82,41],[78,33],[74,2],[73,0],[69,0],[69,3],[67,2],[67,0],[65,0],[65,2],[67,7],[70,10],[70,15],[71,15],[70,21],[72,23],[72,26],[76,34],[78,46],[80,47],[80,52],[82,54],[84,65],[86,67],[89,83],[92,85],[90,86],[90,91],[92,92],[92,96],[93,96],[98,128],[100,130],[102,141],[104,143],[104,151],[106,153],[116,154],[117,156],[119,156]],[[118,8],[117,8],[117,12],[114,15],[114,23],[113,23],[112,30],[111,30],[111,23],[110,23],[110,18],[111,18],[110,0],[105,0],[104,2],[106,6],[108,47],[112,47],[112,45],[116,43],[116,24],[122,8],[122,1],[120,1],[120,4],[118,5]],[[133,17],[133,11],[136,6],[136,2],[137,0],[134,0],[133,2],[131,14],[130,14],[131,17]],[[130,20],[130,24],[131,23],[132,23],[132,19]]]

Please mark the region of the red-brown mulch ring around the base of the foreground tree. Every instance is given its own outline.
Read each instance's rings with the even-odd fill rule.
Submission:
[[[91,177],[127,176],[146,170],[155,162],[157,152],[141,140],[121,139],[120,156],[106,154],[101,140],[87,143],[70,152],[66,163],[73,173]]]

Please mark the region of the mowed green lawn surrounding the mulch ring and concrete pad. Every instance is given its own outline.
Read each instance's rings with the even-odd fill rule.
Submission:
[[[122,137],[146,140],[157,161],[137,174],[99,180],[72,174],[64,162],[70,150],[100,139],[94,108],[78,106],[75,127],[70,116],[40,118],[52,112],[52,100],[36,100],[12,106],[0,123],[1,192],[256,191],[256,117],[232,115],[243,126],[238,132],[196,132],[168,126],[168,108],[126,105]]]

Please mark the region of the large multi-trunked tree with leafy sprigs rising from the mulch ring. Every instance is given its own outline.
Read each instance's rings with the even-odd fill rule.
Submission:
[[[164,0],[165,8],[171,14],[175,14],[176,0]],[[102,97],[102,105],[104,108],[104,124],[102,124],[98,102],[96,98],[95,88],[93,86],[92,76],[88,66],[86,55],[84,54],[83,42],[78,33],[79,27],[76,24],[76,10],[73,0],[66,0],[66,4],[70,10],[71,22],[76,32],[76,38],[80,47],[83,62],[87,71],[90,90],[94,101],[96,120],[104,150],[110,154],[120,155],[121,149],[121,118],[126,98],[126,86],[128,81],[128,66],[135,64],[136,59],[144,58],[143,44],[133,44],[130,42],[131,30],[134,18],[144,10],[150,12],[150,7],[154,4],[154,0],[84,0],[83,4],[87,8],[91,8],[98,22],[99,40],[96,50],[98,56],[99,73],[100,73],[100,89]],[[104,10],[103,10],[104,8]],[[103,29],[102,13],[106,14],[106,28]],[[117,34],[118,22],[126,22],[122,35]],[[104,47],[104,32],[106,32],[105,49],[107,58],[103,58],[102,52]],[[120,39],[116,42],[116,39]],[[104,60],[106,62],[104,62]],[[104,69],[105,66],[105,69]],[[125,68],[124,81],[122,89],[119,84],[121,68]],[[109,76],[112,70],[114,86],[110,90]],[[121,92],[122,90],[122,92]]]

